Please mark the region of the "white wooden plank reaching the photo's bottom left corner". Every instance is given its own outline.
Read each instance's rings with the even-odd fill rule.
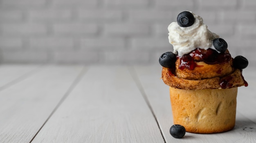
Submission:
[[[83,67],[45,66],[0,92],[0,143],[28,143]]]

